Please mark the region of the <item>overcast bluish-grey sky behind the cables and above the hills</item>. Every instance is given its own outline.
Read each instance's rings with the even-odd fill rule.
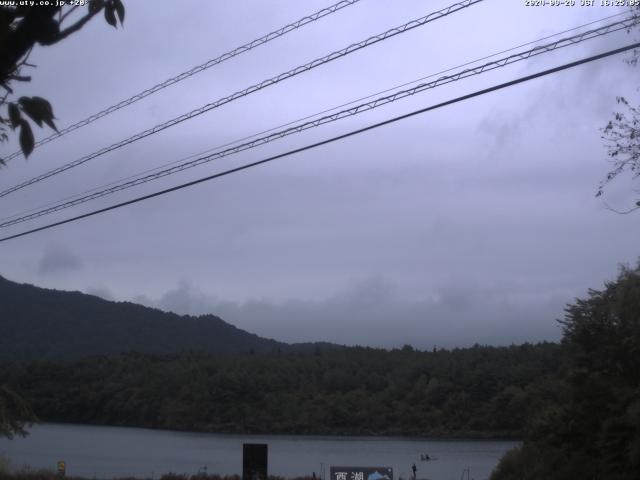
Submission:
[[[450,3],[362,0],[36,149],[0,171],[0,188]],[[4,197],[0,215],[624,11],[524,3],[486,0],[234,101]],[[64,42],[35,49],[33,81],[17,94],[49,99],[64,127],[328,4],[128,0],[124,29],[94,19]],[[259,160],[637,36],[621,32],[438,87],[0,233]],[[558,340],[564,306],[640,256],[640,213],[617,215],[594,197],[610,166],[600,129],[617,95],[638,98],[638,72],[624,58],[2,243],[0,275],[213,313],[287,342],[431,348]],[[12,139],[1,151],[15,149]],[[633,187],[629,178],[616,181],[604,199],[624,208]]]

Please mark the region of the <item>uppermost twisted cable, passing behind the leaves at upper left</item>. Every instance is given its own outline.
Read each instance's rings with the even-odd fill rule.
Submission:
[[[260,45],[264,45],[265,43],[270,42],[271,40],[275,40],[276,38],[282,37],[284,35],[286,35],[289,32],[292,32],[293,30],[297,30],[300,27],[303,27],[305,25],[308,25],[309,23],[313,23],[316,20],[320,20],[323,17],[326,17],[327,15],[331,15],[332,13],[335,13],[339,10],[342,10],[345,7],[349,7],[357,2],[359,2],[360,0],[341,0],[338,3],[335,3],[329,7],[323,8],[322,10],[318,10],[315,13],[312,13],[311,15],[307,15],[306,17],[301,18],[300,20],[297,20],[293,23],[290,23],[288,25],[285,25],[284,27],[279,28],[278,30],[274,30],[273,32],[267,33],[266,35],[263,35],[260,38],[256,38],[255,40],[252,40],[251,42],[245,43],[244,45],[241,45],[237,48],[234,48],[233,50],[229,50],[226,53],[223,53],[222,55],[213,58],[211,60],[207,60],[205,63],[198,65],[196,67],[193,67],[185,72],[182,72],[178,75],[176,75],[175,77],[171,77],[168,78],[167,80],[158,83],[157,85],[154,85],[151,88],[148,88],[146,90],[143,90],[140,93],[137,93],[135,95],[133,95],[132,97],[129,97],[125,100],[122,100],[114,105],[111,105],[110,107],[105,108],[104,110],[101,110],[98,113],[95,113],[93,115],[90,115],[89,117],[80,120],[76,123],[74,123],[73,125],[69,125],[68,127],[53,133],[51,135],[49,135],[46,138],[43,138],[42,140],[39,140],[38,142],[35,143],[35,147],[39,147],[41,145],[44,145],[45,143],[49,143],[57,138],[62,137],[63,135],[66,135],[67,133],[73,132],[74,130],[77,130],[79,128],[82,128],[86,125],[89,125],[90,123],[95,122],[96,120],[105,117],[117,110],[120,110],[124,107],[127,107],[135,102],[137,102],[138,100],[142,100],[145,97],[148,97],[151,94],[154,94],[162,89],[165,89],[175,83],[181,82],[182,80],[185,80],[189,77],[192,77],[200,72],[203,72],[215,65],[218,65],[222,62],[225,62],[227,60],[230,60],[231,58],[237,57],[238,55],[241,55],[245,52],[248,52],[249,50],[253,50],[256,47],[259,47]],[[11,155],[9,155],[7,158],[5,158],[5,162],[9,161],[9,160],[13,160],[16,157],[19,157],[20,155],[22,155],[22,151],[16,151],[13,152]]]

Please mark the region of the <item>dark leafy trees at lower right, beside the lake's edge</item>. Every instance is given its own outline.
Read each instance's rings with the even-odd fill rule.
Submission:
[[[492,480],[640,478],[640,264],[566,310],[564,394]]]

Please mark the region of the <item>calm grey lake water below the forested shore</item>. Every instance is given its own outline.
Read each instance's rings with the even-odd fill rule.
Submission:
[[[394,479],[409,479],[411,464],[418,479],[469,480],[489,477],[500,457],[517,445],[509,441],[429,440],[393,437],[314,437],[290,435],[221,435],[140,428],[42,424],[27,438],[0,439],[0,455],[12,468],[55,469],[67,464],[67,475],[93,478],[158,478],[167,472],[241,474],[242,444],[269,445],[269,474],[320,475],[329,466],[393,467]],[[421,462],[420,454],[436,460]],[[322,477],[320,477],[322,478]],[[465,474],[465,480],[467,478]]]

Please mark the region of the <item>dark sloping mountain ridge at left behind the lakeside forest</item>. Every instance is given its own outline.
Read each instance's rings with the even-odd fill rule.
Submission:
[[[0,359],[77,358],[116,352],[305,350],[214,315],[193,317],[11,282],[0,276]]]

